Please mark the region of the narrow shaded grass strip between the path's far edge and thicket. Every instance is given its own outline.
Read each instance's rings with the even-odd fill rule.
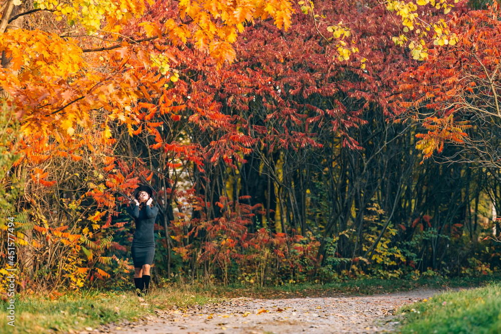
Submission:
[[[195,292],[206,293],[212,297],[253,297],[253,298],[304,298],[327,297],[340,294],[368,295],[394,291],[412,290],[421,287],[476,287],[485,284],[486,278],[420,278],[402,279],[360,279],[327,284],[294,284],[279,286],[245,286],[229,284],[226,286],[194,287]]]

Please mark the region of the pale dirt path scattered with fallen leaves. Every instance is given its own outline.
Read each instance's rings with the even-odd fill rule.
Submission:
[[[110,324],[96,331],[113,334],[293,334],[392,331],[392,313],[441,292],[419,289],[372,296],[328,298],[233,298],[187,310],[156,310],[156,316]],[[81,332],[86,333],[86,332]]]

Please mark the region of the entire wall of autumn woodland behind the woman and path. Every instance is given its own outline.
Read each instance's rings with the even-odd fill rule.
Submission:
[[[139,184],[159,207],[157,286],[501,265],[496,5],[2,4],[0,234],[16,252],[0,255],[18,289],[127,289]]]

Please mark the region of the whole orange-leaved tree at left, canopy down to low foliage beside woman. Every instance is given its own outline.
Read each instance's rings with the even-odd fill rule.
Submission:
[[[166,7],[173,15],[165,13]],[[176,60],[162,54],[161,45],[193,44],[220,66],[233,60],[231,43],[245,25],[271,17],[287,29],[292,15],[288,1],[276,0],[243,4],[6,0],[2,10],[0,83],[23,134],[19,145],[8,143],[12,153],[20,154],[12,172],[23,169],[31,176],[21,202],[31,210],[35,233],[40,233],[33,240],[30,237],[28,247],[34,253],[48,249],[38,262],[46,270],[60,261],[69,265],[59,263],[53,288],[65,279],[73,280],[72,286],[78,288],[81,274],[91,279],[109,275],[100,268],[89,269],[98,261],[109,262],[99,255],[112,244],[104,231],[116,214],[115,196],[120,191],[127,194],[138,180],[125,180],[115,168],[110,149],[116,139],[109,123],[117,120],[128,128],[129,136],[138,134],[141,130],[133,126],[144,116],[141,99],[150,98],[145,87],[160,92],[159,76],[163,76],[161,85],[175,83],[178,75],[170,64]],[[145,131],[158,126],[145,125],[149,127]],[[89,166],[79,179],[79,189],[59,191],[63,181],[56,170],[49,174],[49,166],[68,167],[79,161]],[[87,172],[91,177],[85,177]],[[51,199],[46,204],[58,209],[41,209],[36,214],[43,202],[37,204],[32,196]],[[100,224],[105,215],[106,223]],[[80,220],[66,221],[75,216]],[[67,224],[60,226],[61,221]],[[20,235],[17,238],[23,244]],[[85,255],[88,266],[79,267],[79,254]],[[62,270],[74,276],[60,279]]]

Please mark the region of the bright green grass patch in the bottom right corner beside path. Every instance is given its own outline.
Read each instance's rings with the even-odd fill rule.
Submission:
[[[501,333],[501,281],[402,307],[401,333]],[[402,314],[404,313],[404,314]]]

